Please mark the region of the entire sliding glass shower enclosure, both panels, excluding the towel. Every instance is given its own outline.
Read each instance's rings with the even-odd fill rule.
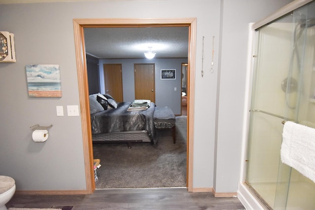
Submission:
[[[268,209],[315,206],[314,182],[280,159],[285,120],[315,127],[314,5],[255,31],[246,184]]]

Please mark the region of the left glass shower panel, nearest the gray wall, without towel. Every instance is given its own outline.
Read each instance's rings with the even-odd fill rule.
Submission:
[[[246,181],[270,209],[274,208],[276,197],[286,103],[290,106],[295,104],[286,101],[282,90],[290,65],[291,30],[292,16],[288,15],[255,31],[257,47],[254,53]]]

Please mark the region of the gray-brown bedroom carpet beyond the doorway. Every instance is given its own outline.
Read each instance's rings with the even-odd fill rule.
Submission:
[[[176,144],[172,129],[158,130],[158,144],[94,144],[96,189],[186,187],[187,116],[176,117]]]

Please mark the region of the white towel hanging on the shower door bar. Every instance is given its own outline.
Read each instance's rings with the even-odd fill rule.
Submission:
[[[284,123],[281,161],[315,182],[315,129]]]

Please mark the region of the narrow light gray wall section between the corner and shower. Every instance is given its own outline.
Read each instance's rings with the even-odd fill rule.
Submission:
[[[245,86],[249,23],[259,21],[291,1],[222,0],[214,170],[217,192],[237,189],[236,183],[240,180],[241,138],[246,135],[243,133],[244,106],[248,103]]]

